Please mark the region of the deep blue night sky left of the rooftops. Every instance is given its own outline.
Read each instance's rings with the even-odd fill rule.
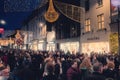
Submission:
[[[0,20],[6,21],[5,25],[0,24],[0,28],[20,29],[23,20],[31,14],[39,2],[40,0],[0,0]]]

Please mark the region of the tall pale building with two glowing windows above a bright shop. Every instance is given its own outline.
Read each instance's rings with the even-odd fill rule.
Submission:
[[[110,0],[84,0],[84,3],[84,26],[81,27],[80,37],[81,53],[110,52]]]

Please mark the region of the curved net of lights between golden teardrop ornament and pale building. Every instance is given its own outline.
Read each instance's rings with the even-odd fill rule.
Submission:
[[[79,23],[83,20],[84,9],[82,7],[78,7],[72,4],[67,4],[58,1],[55,1],[55,6],[66,17]]]

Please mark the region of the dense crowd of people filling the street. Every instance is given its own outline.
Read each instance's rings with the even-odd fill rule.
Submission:
[[[8,80],[120,80],[119,65],[120,56],[110,53],[92,52],[88,56],[0,49],[0,73],[5,72]]]

